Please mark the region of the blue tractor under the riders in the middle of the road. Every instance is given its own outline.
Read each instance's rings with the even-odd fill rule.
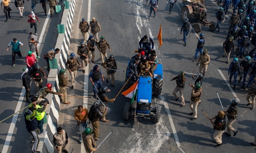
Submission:
[[[129,62],[128,62],[129,65]],[[125,80],[127,81],[131,76],[130,71],[127,69]],[[131,80],[131,81],[130,81]],[[129,84],[128,84],[129,82]],[[126,88],[128,89],[133,84],[133,79],[129,79]],[[157,123],[161,114],[161,106],[155,104],[152,106],[152,94],[160,95],[163,86],[163,67],[161,63],[157,64],[157,69],[154,71],[153,82],[148,75],[142,75],[138,80],[138,90],[131,102],[126,102],[123,118],[128,120],[131,112],[134,112],[134,117],[153,119]]]

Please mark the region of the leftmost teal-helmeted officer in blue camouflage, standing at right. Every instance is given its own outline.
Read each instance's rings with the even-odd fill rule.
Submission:
[[[234,75],[234,87],[233,89],[236,89],[236,78],[237,75],[240,74],[239,69],[240,69],[240,65],[237,63],[238,62],[238,58],[234,58],[232,63],[230,63],[229,68],[228,68],[228,75],[229,76],[229,84],[231,83],[231,79]]]

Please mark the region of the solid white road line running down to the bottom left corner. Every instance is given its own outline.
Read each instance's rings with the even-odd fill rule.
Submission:
[[[15,109],[14,112],[18,112],[20,110],[25,92],[26,92],[26,89],[23,86],[22,91],[20,93],[20,98],[19,98],[18,104],[17,104],[16,109]],[[11,142],[11,139],[12,139],[12,134],[13,134],[18,116],[19,116],[19,113],[16,113],[12,117],[12,122],[10,124],[10,128],[9,128],[9,131],[7,133],[7,136],[6,136],[6,139],[5,139],[5,142],[4,142],[4,147],[3,147],[2,153],[7,153],[7,151],[8,151],[8,148],[9,148],[9,145],[10,145],[10,142]]]

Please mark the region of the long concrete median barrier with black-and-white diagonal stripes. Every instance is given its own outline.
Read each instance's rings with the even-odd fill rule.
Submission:
[[[58,62],[58,67],[60,69],[65,68],[65,63],[67,61],[68,55],[68,48],[70,43],[70,36],[71,36],[71,29],[72,23],[75,13],[75,6],[76,0],[70,0],[70,9],[64,9],[61,24],[65,27],[65,33],[59,33],[57,38],[57,43],[55,48],[61,48],[60,53],[56,54],[55,58]],[[68,17],[68,18],[67,18]],[[51,69],[48,77],[55,77],[49,78],[47,83],[53,85],[52,91],[59,92],[58,86],[58,72],[60,69]],[[58,95],[48,94],[46,98],[50,101],[50,105],[46,108],[47,121],[48,124],[44,124],[44,129],[47,130],[47,134],[39,135],[40,143],[38,145],[38,151],[42,153],[53,153],[54,147],[52,144],[53,135],[57,132],[56,128],[58,126],[58,119],[59,119],[59,111],[60,111],[60,98]]]

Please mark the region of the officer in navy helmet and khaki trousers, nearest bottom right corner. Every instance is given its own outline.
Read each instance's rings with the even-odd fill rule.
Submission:
[[[226,135],[231,136],[231,131],[234,132],[233,136],[236,136],[237,130],[232,127],[232,124],[236,120],[237,111],[238,111],[238,101],[236,99],[231,99],[230,106],[228,107],[227,111],[224,111],[225,115],[228,117],[227,121],[227,132],[225,132]]]

